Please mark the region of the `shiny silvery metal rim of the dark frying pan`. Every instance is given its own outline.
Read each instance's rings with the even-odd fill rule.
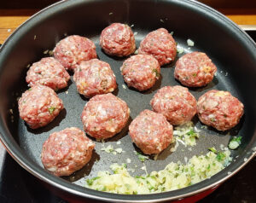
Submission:
[[[148,1],[148,0],[147,0]],[[40,10],[38,13],[33,14],[32,17],[30,17],[28,20],[26,20],[24,23],[22,23],[16,30],[15,32],[13,32],[9,38],[3,43],[2,47],[0,48],[0,52],[4,49],[4,47],[6,46],[6,44],[8,44],[8,42],[11,40],[11,38],[13,38],[13,36],[15,35],[16,32],[18,32],[20,30],[20,27],[26,25],[27,23],[29,23],[30,20],[32,20],[33,18],[37,17],[38,15],[44,13],[45,10],[49,10],[52,8],[56,8],[57,6],[59,6],[60,4],[63,3],[71,3],[72,0],[69,1],[65,1],[62,0],[61,2],[58,3],[54,3],[52,5],[49,5],[49,7]],[[81,0],[76,1],[75,3],[80,3],[82,2]],[[87,1],[88,3],[92,2],[92,1]],[[215,14],[215,16],[218,16],[219,19],[224,20],[225,22],[227,22],[230,26],[232,26],[234,29],[236,29],[236,31],[241,32],[243,34],[243,37],[245,39],[247,39],[247,43],[252,44],[252,46],[254,44],[253,39],[251,39],[246,32],[243,32],[238,26],[236,26],[236,24],[234,22],[232,22],[231,20],[229,20],[228,18],[226,18],[224,16],[224,14],[220,14],[218,11],[208,7],[207,5],[203,4],[203,3],[198,3],[195,2],[194,0],[183,0],[183,1],[178,1],[178,0],[166,0],[166,2],[180,2],[180,3],[193,3],[196,6],[200,6],[202,9],[205,9],[207,11],[209,11],[211,14]],[[73,1],[74,3],[74,1]],[[6,125],[3,125],[3,121],[1,118],[1,123],[2,126],[5,127],[5,129],[8,129]],[[1,126],[1,128],[2,128]],[[1,131],[3,131],[1,129]],[[7,134],[9,133],[8,131],[5,131]],[[90,188],[84,188],[84,192],[80,191],[81,189],[76,189],[77,187],[82,188],[81,186],[78,185],[74,185],[73,183],[69,183],[59,177],[54,177],[52,175],[49,175],[46,171],[44,171],[43,168],[41,168],[39,165],[36,165],[35,163],[33,163],[32,159],[26,159],[26,156],[24,156],[22,154],[22,149],[20,148],[20,146],[15,143],[14,138],[11,136],[11,141],[15,143],[15,148],[11,148],[9,146],[10,141],[6,140],[6,137],[2,135],[2,132],[0,133],[0,138],[1,138],[1,142],[3,143],[4,148],[6,148],[6,150],[8,151],[8,153],[15,159],[15,161],[17,163],[19,163],[24,169],[26,169],[26,171],[29,171],[30,173],[32,173],[32,175],[34,175],[35,177],[38,177],[40,180],[44,181],[45,183],[49,183],[50,185],[56,187],[56,188],[61,188],[64,191],[67,191],[68,193],[71,194],[75,194],[75,195],[79,195],[80,197],[86,197],[86,198],[92,198],[95,200],[111,200],[111,201],[116,201],[116,202],[155,202],[156,200],[177,200],[180,198],[184,198],[184,197],[188,197],[194,194],[198,194],[201,193],[209,188],[214,188],[216,187],[218,184],[223,183],[226,179],[232,177],[233,175],[236,174],[236,172],[240,171],[242,167],[244,167],[244,165],[247,165],[247,163],[253,159],[255,154],[246,154],[246,152],[244,154],[241,154],[242,158],[246,158],[247,161],[240,161],[242,163],[240,163],[239,167],[236,167],[236,169],[234,171],[231,171],[230,175],[225,176],[224,175],[221,177],[219,177],[219,180],[217,182],[211,183],[211,184],[207,184],[207,187],[203,187],[203,188],[195,188],[196,185],[192,185],[189,188],[195,188],[195,189],[189,189],[191,190],[189,193],[185,193],[183,194],[182,192],[178,192],[177,195],[170,195],[173,193],[177,193],[177,191],[183,191],[183,190],[188,190],[188,188],[182,188],[182,189],[178,189],[178,190],[173,190],[173,191],[169,191],[166,193],[160,193],[160,194],[139,194],[139,195],[127,195],[127,194],[108,194],[108,193],[103,193],[103,192],[99,192],[96,190],[92,190]],[[255,146],[256,143],[254,142],[253,145]],[[253,147],[252,147],[253,148]],[[20,153],[21,152],[21,153]],[[239,164],[238,163],[238,164]],[[236,163],[236,165],[238,165]],[[36,166],[36,167],[35,167]],[[57,182],[55,181],[57,180]],[[61,184],[62,183],[62,184]],[[201,182],[202,183],[202,182]],[[67,187],[70,186],[70,187]],[[71,187],[73,186],[73,187]],[[90,194],[87,193],[86,191],[90,191]],[[160,195],[163,195],[166,197],[159,197]],[[169,194],[169,195],[167,195]],[[111,197],[110,197],[111,196]],[[113,198],[114,196],[114,198]],[[126,196],[126,197],[125,197]],[[151,197],[150,199],[143,199],[145,196],[147,197]],[[125,199],[123,199],[125,197]],[[128,198],[131,197],[131,198]],[[123,199],[123,200],[122,200]],[[141,199],[141,200],[140,200]],[[143,200],[142,200],[143,199]]]

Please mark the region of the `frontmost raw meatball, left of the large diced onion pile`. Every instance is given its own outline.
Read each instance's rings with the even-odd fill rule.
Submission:
[[[44,168],[57,177],[69,176],[86,165],[95,143],[79,128],[66,128],[50,134],[41,154]]]

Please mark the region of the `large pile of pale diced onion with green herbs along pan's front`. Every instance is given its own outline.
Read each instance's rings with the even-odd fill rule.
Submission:
[[[99,171],[97,177],[87,180],[86,187],[115,194],[152,194],[184,188],[223,170],[230,163],[230,151],[209,152],[185,161],[185,165],[172,162],[162,171],[152,171],[140,177],[131,177],[128,172],[131,170],[124,164],[113,164],[110,166],[113,174]],[[146,171],[145,165],[141,169]]]

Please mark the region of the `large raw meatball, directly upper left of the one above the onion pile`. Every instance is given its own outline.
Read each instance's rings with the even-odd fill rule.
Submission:
[[[97,95],[86,103],[81,119],[84,131],[97,140],[114,136],[121,131],[130,116],[126,102],[108,93]]]

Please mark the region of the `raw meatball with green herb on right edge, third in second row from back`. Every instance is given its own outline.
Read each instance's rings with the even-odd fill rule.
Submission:
[[[160,77],[159,62],[151,55],[132,55],[120,70],[125,83],[140,91],[151,88]]]

